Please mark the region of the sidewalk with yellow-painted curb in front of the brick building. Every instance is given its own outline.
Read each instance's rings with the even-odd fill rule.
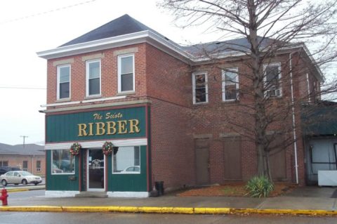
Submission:
[[[287,213],[337,215],[333,187],[300,187],[286,196],[251,197],[176,197],[164,195],[145,199],[32,197],[11,200],[0,211],[100,211],[145,213]]]

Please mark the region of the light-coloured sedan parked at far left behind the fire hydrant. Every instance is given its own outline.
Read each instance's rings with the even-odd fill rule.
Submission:
[[[18,185],[19,183],[22,183],[23,185],[34,183],[34,185],[38,185],[42,182],[41,177],[34,176],[27,171],[9,171],[1,175],[0,180],[3,186],[6,186],[8,183],[13,183],[15,185]]]

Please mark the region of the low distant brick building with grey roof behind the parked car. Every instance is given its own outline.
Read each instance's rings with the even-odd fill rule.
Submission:
[[[44,176],[46,158],[43,145],[6,145],[0,143],[0,167],[18,167],[37,176]]]

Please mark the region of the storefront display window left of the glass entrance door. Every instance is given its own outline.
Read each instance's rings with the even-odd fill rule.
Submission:
[[[69,150],[53,150],[51,160],[53,174],[75,173],[75,157]]]

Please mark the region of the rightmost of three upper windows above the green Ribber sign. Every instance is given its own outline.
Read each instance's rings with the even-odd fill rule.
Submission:
[[[135,91],[135,60],[133,54],[118,56],[118,93]]]

